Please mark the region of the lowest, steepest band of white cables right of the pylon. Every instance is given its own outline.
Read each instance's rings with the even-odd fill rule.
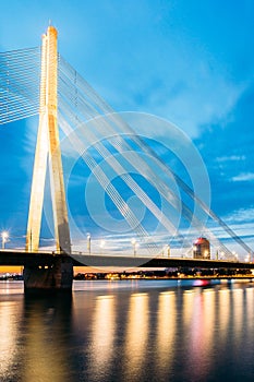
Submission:
[[[72,143],[73,147],[78,152],[78,154],[83,157],[84,155],[84,146],[83,143],[77,139],[77,136],[74,134],[72,128],[69,126],[69,123],[65,121],[65,119],[61,116],[61,112],[59,112],[59,124],[63,132],[69,136],[70,142]],[[133,212],[130,210],[129,205],[124,202],[118,190],[113,187],[113,184],[110,182],[107,175],[101,170],[99,166],[97,166],[96,160],[89,156],[86,155],[84,157],[84,160],[86,165],[89,167],[89,169],[95,175],[96,179],[99,181],[106,193],[110,196],[114,205],[118,207],[121,215],[124,217],[124,219],[128,222],[129,226],[136,231],[137,236],[141,238],[141,240],[146,244],[149,252],[153,252],[155,250],[158,250],[157,246],[153,242],[148,242],[149,235],[145,230],[145,228],[142,226],[142,224],[137,220],[136,216],[133,214]]]

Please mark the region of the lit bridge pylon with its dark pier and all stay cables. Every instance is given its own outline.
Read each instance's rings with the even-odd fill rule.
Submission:
[[[57,31],[52,26],[49,26],[47,34],[43,36],[41,47],[0,55],[0,123],[7,124],[36,115],[39,116],[39,127],[25,250],[35,258],[36,253],[39,253],[46,172],[49,167],[56,238],[55,258],[57,260],[51,259],[55,254],[48,253],[51,259],[48,264],[50,271],[46,271],[41,267],[37,268],[38,264],[36,267],[29,266],[29,261],[26,261],[24,255],[27,287],[34,285],[34,282],[29,284],[29,279],[36,277],[39,279],[44,272],[44,275],[47,275],[46,278],[53,279],[57,288],[64,287],[64,285],[70,288],[73,263],[87,265],[85,255],[82,261],[81,255],[78,254],[77,259],[72,251],[59,129],[68,136],[73,151],[93,172],[120,216],[123,217],[130,231],[135,234],[150,258],[156,258],[159,253],[156,237],[149,232],[136,211],[124,199],[121,188],[111,181],[116,177],[121,179],[131,194],[135,195],[157,219],[167,231],[168,237],[174,238],[182,247],[190,247],[189,238],[179,228],[179,220],[164,212],[162,204],[168,206],[165,211],[177,212],[189,222],[190,227],[205,235],[217,252],[222,252],[232,259],[231,251],[218,239],[215,231],[204,224],[195,206],[241,246],[249,255],[252,254],[252,249],[209,208],[198,193],[194,192],[173,168],[169,167],[156,151],[136,134],[131,126],[119,114],[116,114],[61,57],[57,47]],[[90,146],[93,146],[93,154],[87,150]],[[157,171],[149,166],[144,155],[153,158]],[[107,162],[107,170],[99,166],[98,158],[100,162]],[[162,201],[160,205],[133,176],[135,174],[156,184],[156,190]],[[194,207],[181,198],[181,193],[176,192],[171,183],[177,184],[181,193],[191,200]],[[31,255],[28,258],[31,259]],[[0,261],[3,262],[1,255]],[[12,261],[10,254],[10,263]],[[104,262],[102,256],[101,262]],[[136,260],[134,263],[137,263]],[[140,261],[140,265],[145,263],[147,261]],[[157,265],[162,266],[159,265],[159,261]],[[50,275],[47,272],[50,272]]]

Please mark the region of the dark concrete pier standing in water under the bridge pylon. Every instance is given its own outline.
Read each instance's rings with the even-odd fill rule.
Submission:
[[[26,293],[71,291],[72,260],[69,256],[59,255],[49,265],[25,265],[23,276]]]

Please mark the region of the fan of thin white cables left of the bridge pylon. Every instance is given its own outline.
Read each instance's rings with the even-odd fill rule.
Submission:
[[[0,53],[0,124],[39,110],[40,47]]]

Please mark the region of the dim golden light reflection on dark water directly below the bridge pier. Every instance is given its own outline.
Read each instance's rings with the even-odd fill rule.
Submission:
[[[24,365],[19,373],[22,381],[49,381],[52,375],[52,381],[61,382],[69,374],[68,353],[62,346],[63,322],[59,320],[57,310],[53,303],[25,300],[21,324],[24,351],[21,356]]]

